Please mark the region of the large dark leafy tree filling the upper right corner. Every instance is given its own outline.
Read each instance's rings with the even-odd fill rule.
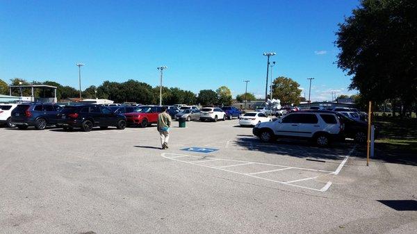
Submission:
[[[417,1],[362,0],[336,32],[338,67],[364,100],[417,101]]]

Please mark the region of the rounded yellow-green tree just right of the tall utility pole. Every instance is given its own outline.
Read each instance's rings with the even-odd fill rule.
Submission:
[[[292,78],[279,76],[272,82],[272,90],[274,90],[272,95],[275,99],[279,99],[281,101],[281,105],[289,105],[292,103],[297,105],[300,103],[301,95],[299,87],[300,84],[293,81]]]

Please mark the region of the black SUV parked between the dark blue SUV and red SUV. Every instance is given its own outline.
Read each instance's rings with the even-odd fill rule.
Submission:
[[[109,126],[115,126],[118,129],[126,127],[126,117],[124,115],[115,113],[106,106],[99,105],[64,106],[56,122],[59,126],[63,126],[65,131],[81,128],[81,130],[88,132],[95,126],[103,129]]]

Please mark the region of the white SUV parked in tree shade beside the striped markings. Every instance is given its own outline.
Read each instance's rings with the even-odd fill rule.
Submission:
[[[343,124],[332,112],[302,111],[289,113],[275,122],[263,122],[253,128],[254,135],[263,142],[276,138],[304,138],[313,140],[320,147],[340,139]]]

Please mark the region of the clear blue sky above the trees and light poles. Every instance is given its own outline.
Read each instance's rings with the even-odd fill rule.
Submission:
[[[265,93],[265,51],[274,77],[300,83],[311,99],[347,92],[334,64],[337,24],[357,1],[0,1],[0,78],[82,87],[130,78],[198,92]],[[308,97],[307,97],[308,98]]]

